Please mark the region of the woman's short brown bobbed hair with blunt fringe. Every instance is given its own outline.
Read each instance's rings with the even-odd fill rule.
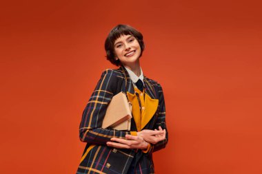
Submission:
[[[119,39],[121,35],[132,35],[134,36],[137,41],[139,42],[139,45],[141,47],[141,54],[139,57],[142,56],[143,50],[145,49],[145,45],[143,43],[143,35],[141,32],[137,31],[136,29],[132,28],[130,25],[123,25],[119,24],[116,27],[114,27],[110,33],[108,34],[108,37],[105,39],[105,52],[106,52],[106,58],[108,61],[110,61],[114,65],[121,65],[121,62],[118,60],[115,60],[115,54],[114,54],[114,41]]]

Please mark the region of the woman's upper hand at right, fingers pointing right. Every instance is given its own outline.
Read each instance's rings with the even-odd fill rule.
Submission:
[[[165,129],[162,129],[161,127],[159,127],[159,130],[154,129],[154,131],[143,129],[142,131],[137,132],[137,136],[141,136],[146,142],[157,144],[157,142],[165,140]]]

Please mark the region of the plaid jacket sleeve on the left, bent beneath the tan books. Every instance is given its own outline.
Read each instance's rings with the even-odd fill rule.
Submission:
[[[79,127],[79,138],[82,142],[103,144],[110,138],[125,138],[130,131],[102,129],[103,117],[112,97],[117,92],[120,80],[112,69],[106,69],[101,75],[88,104],[86,105]]]

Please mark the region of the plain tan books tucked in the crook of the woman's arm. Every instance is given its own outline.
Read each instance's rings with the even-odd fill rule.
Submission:
[[[125,93],[113,96],[103,118],[102,128],[112,128],[117,130],[130,130],[132,118],[132,107],[126,98]]]

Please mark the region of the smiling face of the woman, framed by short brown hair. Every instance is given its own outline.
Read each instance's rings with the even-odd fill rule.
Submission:
[[[139,65],[141,47],[134,36],[122,35],[114,41],[114,54],[115,59],[119,59],[122,65]]]

